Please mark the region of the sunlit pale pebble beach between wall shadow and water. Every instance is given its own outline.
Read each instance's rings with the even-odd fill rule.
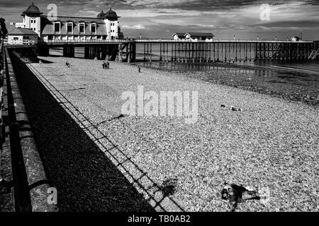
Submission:
[[[318,106],[174,71],[142,68],[139,73],[138,66],[113,61],[102,69],[96,60],[40,59],[49,63],[28,67],[56,88],[53,96],[58,90],[74,105],[66,111],[75,121],[88,119],[77,123],[155,210],[229,211],[220,196],[228,182],[270,191],[266,204],[247,201],[236,211],[319,211]],[[122,93],[137,93],[138,85],[158,94],[197,91],[198,120],[116,118],[125,102]]]

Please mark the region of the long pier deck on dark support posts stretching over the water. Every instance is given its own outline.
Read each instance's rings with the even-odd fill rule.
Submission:
[[[135,62],[176,61],[184,63],[235,62],[254,60],[313,60],[318,58],[316,41],[258,40],[48,40],[38,43],[40,55],[62,47],[63,56],[74,57],[75,47],[84,47],[84,58]],[[138,52],[137,49],[140,49]],[[142,49],[142,50],[141,50]]]

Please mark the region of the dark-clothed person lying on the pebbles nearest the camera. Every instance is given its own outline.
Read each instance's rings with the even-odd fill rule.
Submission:
[[[237,208],[238,203],[245,203],[247,200],[260,200],[258,191],[249,186],[238,186],[237,184],[224,183],[221,191],[221,198],[229,201],[228,207],[232,212]]]

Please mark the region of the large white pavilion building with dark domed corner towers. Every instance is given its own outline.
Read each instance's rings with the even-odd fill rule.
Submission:
[[[118,16],[111,8],[101,11],[96,18],[44,16],[38,6],[31,4],[21,14],[22,23],[16,28],[28,28],[38,34],[40,40],[117,40],[123,39]]]

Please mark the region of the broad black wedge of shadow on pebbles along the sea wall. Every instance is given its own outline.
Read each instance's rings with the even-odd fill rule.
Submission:
[[[13,70],[60,211],[154,211],[28,66]]]

